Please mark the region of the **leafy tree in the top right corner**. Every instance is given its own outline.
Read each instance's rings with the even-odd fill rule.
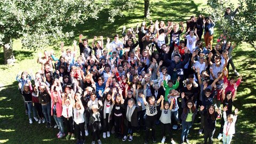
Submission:
[[[228,41],[240,44],[242,42],[249,43],[256,50],[256,0],[239,0],[238,12],[234,19],[223,17],[226,8],[230,7],[235,10],[234,2],[218,0],[208,0],[207,4],[210,9],[205,9],[213,20],[218,23]]]

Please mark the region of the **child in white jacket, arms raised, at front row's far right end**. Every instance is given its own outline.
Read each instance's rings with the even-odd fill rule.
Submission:
[[[225,121],[224,124],[224,129],[223,129],[223,144],[230,144],[233,134],[235,134],[235,123],[236,123],[236,119],[237,119],[237,113],[238,113],[238,109],[235,109],[235,116],[232,114],[228,115],[228,119],[227,119],[227,115],[226,115],[226,110],[227,107],[223,107],[223,118]]]

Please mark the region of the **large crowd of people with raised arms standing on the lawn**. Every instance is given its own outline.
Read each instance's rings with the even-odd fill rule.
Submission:
[[[238,114],[238,109],[232,114],[233,101],[242,77],[235,81],[229,76],[239,76],[231,55],[235,44],[222,36],[213,45],[214,26],[203,15],[192,16],[186,28],[183,22],[142,22],[123,27],[122,38],[115,34],[106,44],[94,36],[90,46],[79,35],[79,52],[76,41],[74,50],[65,50],[62,42],[60,56],[44,51],[36,74],[25,70],[17,76],[29,123],[58,127],[58,138],[77,143],[89,134],[91,143],[110,134],[132,141],[140,131],[145,131],[145,144],[189,143],[189,130],[199,116],[198,134],[204,133],[204,143],[213,143],[221,118],[218,139],[230,143]],[[155,134],[158,125],[161,140]],[[174,139],[180,129],[180,140]]]

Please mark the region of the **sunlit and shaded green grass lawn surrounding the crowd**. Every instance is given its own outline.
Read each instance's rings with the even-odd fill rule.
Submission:
[[[123,25],[126,27],[136,26],[146,19],[143,19],[143,1],[137,2],[134,10],[126,11],[123,17],[117,17],[114,23],[108,22],[108,14],[102,12],[98,20],[89,19],[84,24],[73,29],[78,39],[79,34],[83,34],[92,42],[94,35],[111,38],[115,33],[120,34]],[[167,20],[179,22],[186,21],[191,15],[200,13],[202,7],[205,6],[204,1],[154,1],[153,9],[151,10],[151,18],[155,20]],[[149,20],[146,20],[149,22]],[[220,34],[220,31],[215,28],[214,38]],[[71,45],[74,39],[66,39],[65,46]],[[214,41],[216,42],[216,41]],[[69,46],[70,47],[70,46]],[[47,50],[59,51],[59,46],[50,46]],[[19,71],[28,70],[35,73],[40,69],[40,65],[36,63],[36,58],[39,52],[43,50],[32,51],[21,49],[21,43],[18,40],[14,41],[14,55],[17,63],[14,66],[5,66],[3,63],[3,48],[0,48],[0,143],[75,143],[75,141],[59,140],[55,137],[58,133],[56,129],[46,129],[44,124],[29,124],[28,116],[24,113],[24,106],[21,95],[18,91],[18,83],[15,81],[15,76]],[[57,52],[60,54],[60,52]],[[256,52],[250,45],[243,43],[234,50],[233,58],[237,71],[243,75],[243,82],[238,87],[238,96],[234,102],[234,107],[239,109],[238,120],[236,123],[236,134],[233,138],[233,143],[256,143],[256,120],[254,118],[256,112]],[[232,73],[232,71],[231,71]],[[214,135],[214,143],[220,143],[215,139],[219,132],[219,121],[217,122],[217,130]],[[191,143],[203,143],[203,135],[198,136],[199,124],[193,125],[190,131],[189,138]],[[174,131],[174,140],[180,141],[181,131]],[[161,129],[157,129],[157,140],[161,141]],[[142,143],[144,133],[135,133],[132,142],[122,143]],[[86,137],[86,143],[91,142],[91,137]],[[110,139],[102,139],[103,143],[116,143],[121,140],[116,140],[111,136]]]

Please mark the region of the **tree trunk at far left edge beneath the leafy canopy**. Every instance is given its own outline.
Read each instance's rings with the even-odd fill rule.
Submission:
[[[3,45],[4,49],[4,64],[5,65],[14,65],[15,58],[12,51],[12,39],[6,38],[6,41]]]

